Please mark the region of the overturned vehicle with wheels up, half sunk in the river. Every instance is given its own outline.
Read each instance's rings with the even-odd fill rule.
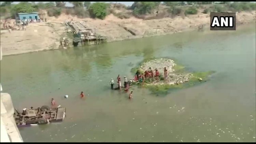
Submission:
[[[49,106],[42,106],[34,109],[23,109],[20,113],[15,109],[14,119],[17,127],[40,125],[49,123],[60,123],[65,118],[66,109],[65,107],[50,108]]]

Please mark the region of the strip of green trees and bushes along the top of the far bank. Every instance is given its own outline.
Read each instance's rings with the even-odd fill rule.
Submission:
[[[46,10],[49,16],[59,16],[62,12],[66,14],[76,15],[80,18],[93,17],[104,19],[106,15],[113,13],[120,19],[129,18],[131,16],[130,12],[119,12],[115,13],[116,9],[132,10],[134,16],[139,18],[145,18],[147,14],[156,12],[158,14],[160,2],[134,2],[128,8],[123,4],[112,4],[112,8],[109,8],[109,3],[104,2],[70,2],[73,4],[72,8],[65,6],[66,2],[56,1],[56,2],[20,2],[18,4],[13,4],[13,2],[2,2],[0,7],[1,18],[15,18],[16,13],[30,13],[39,12],[40,10]],[[187,3],[187,4],[186,4]],[[210,6],[206,6],[209,4]],[[163,2],[163,5],[169,8],[163,9],[167,10],[168,13],[175,15],[184,16],[188,14],[197,14],[198,9],[204,9],[203,13],[209,12],[241,12],[241,11],[251,11],[256,10],[256,3],[253,2]],[[85,9],[86,8],[86,9]]]

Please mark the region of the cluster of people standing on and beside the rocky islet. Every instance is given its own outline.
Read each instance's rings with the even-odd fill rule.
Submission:
[[[164,68],[164,76],[165,76],[165,81],[168,81],[168,74],[167,74],[167,69],[166,67]],[[154,77],[156,78],[156,81],[159,81],[159,71],[157,70],[157,68],[155,69],[155,75],[154,75],[154,71],[151,69],[151,67],[146,70],[144,73],[140,73],[139,70],[137,70],[133,80],[128,81],[127,77],[124,76],[124,88],[125,88],[125,92],[128,92],[129,87],[131,86],[131,82],[139,82],[142,85],[144,85],[145,79],[146,78],[152,78],[152,81],[154,82]],[[118,74],[117,76],[117,87],[114,88],[114,80],[113,78],[111,78],[110,80],[110,85],[111,85],[111,89],[115,89],[115,90],[122,90],[122,86],[121,86],[121,78],[120,75]],[[129,95],[129,99],[132,98],[132,91]]]

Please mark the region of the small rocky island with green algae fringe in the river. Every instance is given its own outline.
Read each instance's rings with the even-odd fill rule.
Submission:
[[[164,68],[167,69],[168,81],[165,81],[164,78]],[[159,71],[159,80],[154,81],[152,78],[145,78],[144,85],[149,88],[153,93],[164,94],[169,92],[172,88],[182,88],[187,86],[193,86],[195,84],[206,82],[209,79],[209,76],[213,71],[208,72],[186,72],[185,67],[176,64],[174,60],[170,58],[156,58],[151,60],[146,60],[141,62],[139,67],[133,68],[131,71],[136,72],[139,70],[140,73],[148,71],[151,68],[154,71],[155,69]],[[139,84],[134,82],[134,84]]]

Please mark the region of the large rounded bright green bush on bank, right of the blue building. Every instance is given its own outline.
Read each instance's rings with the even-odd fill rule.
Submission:
[[[107,3],[95,2],[89,6],[89,14],[93,18],[104,19],[107,15],[107,8]]]

